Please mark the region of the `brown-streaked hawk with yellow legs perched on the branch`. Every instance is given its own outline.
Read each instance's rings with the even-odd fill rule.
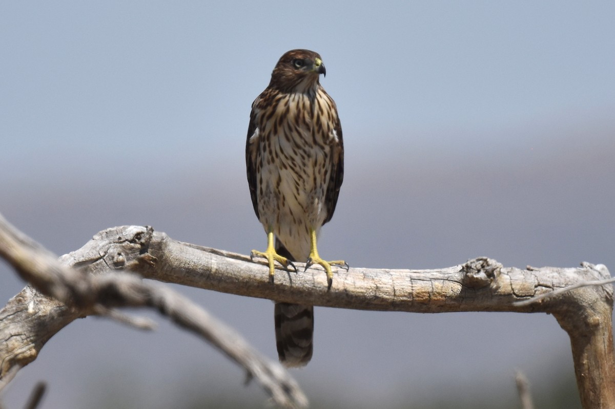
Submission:
[[[271,73],[269,86],[252,103],[245,144],[248,185],[256,217],[267,233],[267,249],[251,257],[296,272],[295,262],[319,264],[333,281],[331,265],[316,248],[320,227],[331,220],[344,176],[344,145],[337,107],[320,85],[326,75],[318,53],[290,50]],[[314,306],[276,303],[280,362],[306,365],[312,357]]]

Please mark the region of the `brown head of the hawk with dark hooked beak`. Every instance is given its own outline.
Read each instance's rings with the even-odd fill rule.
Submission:
[[[271,73],[269,88],[281,92],[315,92],[320,74],[326,75],[319,53],[290,50],[280,57]]]

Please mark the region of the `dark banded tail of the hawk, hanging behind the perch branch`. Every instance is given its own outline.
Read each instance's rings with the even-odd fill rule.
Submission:
[[[276,252],[295,261],[287,249],[276,240]],[[277,356],[286,367],[302,367],[312,359],[314,334],[314,306],[276,303]]]

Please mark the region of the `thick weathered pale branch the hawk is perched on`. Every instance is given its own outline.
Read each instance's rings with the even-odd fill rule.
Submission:
[[[325,273],[318,267],[298,274],[277,270],[272,285],[268,268],[250,262],[247,255],[181,243],[165,233],[134,226],[104,230],[60,260],[92,273],[124,269],[159,281],[306,305],[420,313],[553,314],[571,338],[583,407],[615,407],[613,286],[586,286],[515,304],[579,282],[609,278],[604,265],[520,269],[483,257],[438,270],[338,268],[327,291]],[[0,311],[0,374],[15,364],[31,362],[57,330],[78,316],[26,287]],[[12,330],[17,328],[18,332]]]

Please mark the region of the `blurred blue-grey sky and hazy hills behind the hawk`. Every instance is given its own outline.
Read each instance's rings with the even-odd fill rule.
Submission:
[[[346,173],[325,259],[615,268],[615,4],[1,2],[0,212],[61,255],[117,225],[264,249],[245,179],[250,104],[282,53],[322,55]],[[0,298],[24,283],[0,262]],[[273,304],[177,287],[277,359]],[[160,322],[69,325],[2,397],[41,408],[264,407],[204,342]],[[578,408],[545,314],[316,308],[293,370],[314,408]]]

